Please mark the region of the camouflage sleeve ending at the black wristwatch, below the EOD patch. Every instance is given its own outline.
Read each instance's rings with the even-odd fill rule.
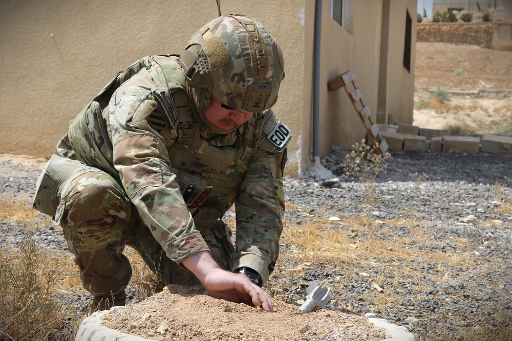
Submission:
[[[279,238],[285,210],[285,163],[286,145],[278,148],[265,134],[249,161],[235,198],[237,255],[233,269],[250,267],[259,272],[263,283],[272,273],[279,256]]]

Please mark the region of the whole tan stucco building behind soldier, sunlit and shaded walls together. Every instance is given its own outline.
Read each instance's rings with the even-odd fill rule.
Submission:
[[[300,176],[315,150],[323,157],[365,137],[344,90],[327,88],[339,74],[353,71],[373,118],[379,110],[381,121],[393,113],[412,123],[417,0],[221,6],[260,20],[285,55],[274,111],[293,131],[287,175]],[[0,153],[49,157],[69,121],[120,69],[145,55],[181,53],[216,16],[214,1],[3,0]]]

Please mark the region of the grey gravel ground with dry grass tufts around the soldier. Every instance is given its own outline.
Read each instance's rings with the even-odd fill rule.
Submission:
[[[371,312],[418,340],[512,339],[512,158],[393,153],[371,187],[370,204],[364,184],[342,176],[342,154],[322,160],[337,179],[285,179],[284,234],[310,223],[337,229],[343,245],[360,250],[359,259],[339,264],[304,255],[303,263],[291,263],[300,248],[283,241],[267,287],[275,299],[298,304],[308,283],[326,280],[333,287],[329,308]],[[0,157],[2,192],[31,196],[43,165]],[[15,247],[25,228],[0,220],[0,247]],[[65,248],[48,223],[37,230],[38,247]],[[302,271],[290,271],[297,267]],[[136,302],[134,291],[128,297]],[[60,293],[59,300],[84,311],[89,295]]]

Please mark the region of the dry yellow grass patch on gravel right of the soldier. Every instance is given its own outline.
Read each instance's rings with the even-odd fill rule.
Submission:
[[[406,230],[407,237],[397,237],[397,229]],[[414,244],[421,244],[429,240],[429,243],[435,239],[434,235],[429,234],[428,229],[422,226],[421,222],[414,218],[403,220],[384,220],[376,222],[368,219],[366,216],[350,217],[342,215],[340,221],[333,223],[327,219],[317,219],[316,222],[305,225],[288,226],[282,242],[288,245],[287,251],[283,252],[276,266],[281,271],[291,272],[293,276],[303,277],[305,271],[311,268],[312,264],[320,265],[322,268],[329,269],[330,274],[344,274],[338,276],[333,284],[333,292],[339,294],[339,298],[334,303],[346,309],[354,309],[350,300],[345,300],[345,292],[354,282],[364,279],[366,281],[366,294],[358,297],[357,300],[372,304],[373,310],[379,310],[383,314],[390,312],[393,308],[402,305],[403,302],[414,300],[422,302],[427,300],[425,292],[434,289],[425,287],[424,283],[444,282],[447,284],[458,283],[460,281],[458,269],[468,269],[465,277],[479,276],[473,269],[495,268],[495,260],[486,259],[486,263],[477,260],[474,255],[474,245],[464,238],[454,238],[453,242],[458,245],[458,252],[441,251],[439,249],[425,248],[424,250],[411,247]],[[349,234],[356,237],[349,238]],[[439,242],[441,245],[441,242]],[[282,264],[300,264],[295,268],[284,268]],[[429,264],[432,270],[425,272],[418,268],[418,264]],[[416,266],[415,266],[416,265]],[[378,271],[371,269],[379,268]],[[368,269],[355,271],[355,269]],[[281,275],[283,276],[283,275]],[[290,273],[286,276],[290,276]],[[276,277],[279,278],[279,275]],[[428,278],[424,281],[422,278]],[[471,287],[472,282],[468,282],[468,290],[477,290],[477,287]],[[304,286],[308,283],[304,283]],[[286,285],[286,284],[284,284]],[[376,285],[376,286],[375,286]],[[402,293],[404,285],[412,285],[417,294],[409,297]],[[495,283],[496,287],[502,287],[503,283]],[[281,300],[288,299],[287,288],[280,286],[269,287],[275,298]],[[409,291],[408,291],[409,292]],[[437,293],[434,293],[434,297]],[[464,299],[457,297],[455,299]],[[414,305],[414,304],[413,304]],[[415,307],[415,309],[418,307]],[[413,312],[404,308],[404,312]],[[426,314],[425,316],[429,316]],[[424,319],[434,319],[444,321],[446,327],[444,331],[430,331],[441,333],[443,341],[451,340],[449,330],[453,330],[454,325],[461,325],[466,328],[464,312],[449,311],[440,309],[434,317],[423,317]],[[502,316],[507,316],[504,312]],[[421,318],[420,318],[421,319]],[[482,319],[484,319],[482,317]],[[502,330],[491,329],[485,323],[487,320],[473,322],[472,326],[463,329],[463,332],[457,335],[457,340],[461,341],[483,341],[488,339],[509,340],[507,333],[512,332],[506,321],[498,321],[502,324]],[[470,328],[481,325],[478,333]],[[423,341],[434,341],[439,338],[427,338]]]

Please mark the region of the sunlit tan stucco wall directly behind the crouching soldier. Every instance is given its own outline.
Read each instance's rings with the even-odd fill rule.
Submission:
[[[260,20],[282,47],[286,77],[274,111],[294,133],[288,174],[297,173],[297,132],[307,100],[305,4],[221,2],[223,14]],[[180,53],[188,38],[216,16],[215,1],[2,0],[0,153],[49,157],[68,122],[117,71],[145,55]]]

